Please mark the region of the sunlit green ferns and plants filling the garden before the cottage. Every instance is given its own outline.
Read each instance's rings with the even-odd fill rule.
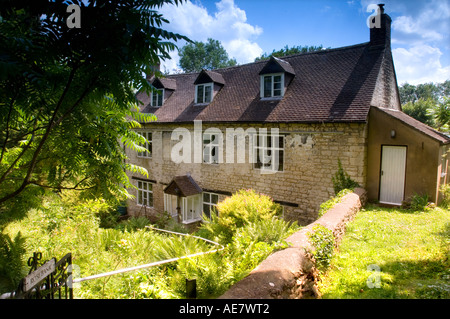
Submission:
[[[268,197],[260,196],[261,203],[258,204],[257,198],[253,197],[256,193],[246,193],[246,198],[252,200],[251,207],[271,207],[266,203]],[[298,230],[295,223],[284,222],[270,213],[267,207],[267,212],[263,214],[265,218],[257,218],[256,212],[249,213],[252,218],[248,219],[252,221],[235,227],[229,242],[219,252],[84,281],[74,290],[75,297],[185,298],[186,278],[197,280],[199,298],[220,296],[275,249],[287,247],[284,239]],[[23,235],[17,238],[26,238],[26,251],[22,256],[28,257],[40,251],[43,259],[50,259],[72,252],[73,262],[80,269],[77,277],[219,248],[193,236],[168,235],[150,230],[145,227],[148,223],[146,218],[132,218],[102,228],[102,219],[108,212],[114,213],[115,209],[107,201],[81,200],[77,192],[66,190],[59,195],[48,194],[42,207],[30,209],[22,219],[10,219],[7,214],[1,214],[0,226],[8,238],[19,236],[19,232]],[[161,223],[171,227],[168,220]],[[195,235],[215,237],[208,228],[201,228]],[[11,265],[9,259],[3,260],[7,261],[4,264]],[[3,265],[1,262],[2,259],[0,267]],[[28,269],[24,260],[20,263],[22,268],[14,266],[14,269]],[[14,276],[17,279],[21,277],[23,275]],[[11,291],[6,287],[2,289],[5,290],[0,290],[0,294]]]

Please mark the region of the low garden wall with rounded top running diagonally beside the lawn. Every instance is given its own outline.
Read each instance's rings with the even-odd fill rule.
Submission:
[[[347,222],[364,206],[367,193],[357,188],[315,222],[286,239],[289,248],[271,254],[247,277],[233,285],[219,299],[317,298],[317,270],[309,258],[308,232],[321,224],[333,232],[338,246]]]

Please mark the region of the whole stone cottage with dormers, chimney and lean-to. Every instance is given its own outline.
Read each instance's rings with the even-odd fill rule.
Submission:
[[[199,73],[149,79],[132,152],[130,215],[164,211],[185,224],[240,189],[270,195],[284,217],[308,224],[333,195],[338,160],[370,200],[433,201],[447,180],[450,139],[401,111],[390,17],[379,9],[370,41]]]

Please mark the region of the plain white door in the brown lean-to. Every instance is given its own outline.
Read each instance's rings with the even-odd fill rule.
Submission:
[[[380,203],[401,205],[405,191],[406,146],[383,146]]]

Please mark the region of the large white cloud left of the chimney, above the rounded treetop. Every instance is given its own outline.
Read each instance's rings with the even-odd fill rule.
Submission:
[[[254,61],[263,53],[255,42],[262,34],[262,28],[247,23],[245,11],[238,8],[234,0],[221,0],[216,3],[216,8],[211,15],[201,4],[187,1],[179,6],[163,6],[160,12],[170,21],[164,26],[167,30],[186,35],[193,41],[219,40],[230,58],[235,58],[238,63]],[[173,52],[171,56],[171,61],[162,63],[162,70],[173,72],[177,68],[178,53]]]

